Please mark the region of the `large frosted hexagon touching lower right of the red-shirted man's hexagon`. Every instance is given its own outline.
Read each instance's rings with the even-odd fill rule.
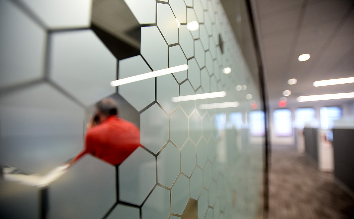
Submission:
[[[119,165],[119,200],[141,205],[156,183],[155,157],[138,147]]]

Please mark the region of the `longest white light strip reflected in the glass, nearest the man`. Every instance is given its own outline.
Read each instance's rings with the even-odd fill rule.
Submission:
[[[144,73],[144,74],[139,74],[139,75],[135,75],[132,77],[128,77],[128,78],[122,78],[122,79],[118,79],[118,80],[114,80],[110,83],[110,85],[112,87],[115,86],[119,86],[119,85],[123,85],[123,84],[129,84],[132,82],[137,82],[139,80],[145,80],[145,79],[149,79],[149,78],[155,78],[155,77],[159,77],[165,74],[171,74],[171,73],[176,73],[176,72],[182,72],[188,69],[188,65],[187,64],[182,64],[180,66],[175,66],[175,67],[171,67],[171,68],[165,68],[165,69],[161,69],[158,71],[153,71],[153,72],[148,72],[148,73]]]

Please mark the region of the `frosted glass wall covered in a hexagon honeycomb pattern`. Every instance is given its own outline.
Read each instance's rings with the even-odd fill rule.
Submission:
[[[242,121],[258,110],[264,126],[253,67],[219,0],[0,0],[1,218],[255,218],[264,141]],[[63,166],[104,97],[141,147],[117,166]]]

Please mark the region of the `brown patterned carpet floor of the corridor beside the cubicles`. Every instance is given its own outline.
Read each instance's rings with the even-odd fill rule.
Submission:
[[[354,218],[354,201],[290,146],[273,146],[270,166],[269,219]]]

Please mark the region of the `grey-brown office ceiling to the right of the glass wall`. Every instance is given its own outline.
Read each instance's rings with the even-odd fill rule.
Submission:
[[[289,107],[341,105],[354,99],[296,101],[303,95],[354,92],[354,84],[314,87],[316,80],[354,77],[353,0],[251,0],[270,107],[291,90]],[[233,18],[230,18],[233,19]],[[310,54],[308,61],[298,56]],[[288,85],[287,80],[298,83]]]

